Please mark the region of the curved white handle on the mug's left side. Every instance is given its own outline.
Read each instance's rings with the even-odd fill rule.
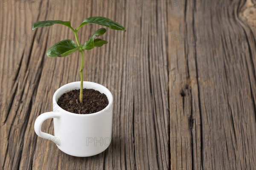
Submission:
[[[53,141],[57,146],[59,146],[60,145],[59,138],[57,138],[49,133],[44,133],[41,131],[41,126],[42,126],[43,122],[48,118],[60,118],[60,116],[56,112],[45,112],[45,113],[39,115],[35,120],[35,126],[34,126],[35,133],[39,137],[49,139],[50,141]]]

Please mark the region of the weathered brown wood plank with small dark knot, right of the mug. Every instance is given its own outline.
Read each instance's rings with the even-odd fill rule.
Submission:
[[[255,36],[237,13],[244,2],[182,2],[168,11],[171,167],[254,169]]]

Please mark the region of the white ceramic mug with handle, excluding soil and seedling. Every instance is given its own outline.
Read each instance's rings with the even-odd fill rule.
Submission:
[[[58,106],[58,98],[65,92],[80,89],[80,81],[61,86],[53,95],[53,111],[38,116],[35,120],[35,133],[49,139],[58,148],[72,156],[93,156],[106,150],[111,143],[113,96],[105,87],[97,83],[84,81],[84,88],[95,89],[108,98],[108,106],[92,114],[75,114]],[[42,123],[53,118],[54,136],[41,131]]]

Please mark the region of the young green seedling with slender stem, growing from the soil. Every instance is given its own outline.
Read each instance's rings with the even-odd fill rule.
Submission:
[[[33,28],[32,28],[32,30],[34,30],[39,27],[52,26],[54,24],[61,24],[69,27],[74,32],[77,44],[73,40],[61,40],[60,42],[55,43],[52,47],[50,47],[47,50],[47,56],[48,57],[66,57],[67,55],[70,55],[76,51],[79,51],[81,53],[81,67],[80,67],[81,85],[80,85],[80,98],[79,98],[80,103],[83,102],[84,50],[90,50],[90,49],[93,49],[94,47],[101,47],[104,44],[108,43],[108,41],[102,40],[100,38],[95,38],[105,34],[105,32],[107,31],[105,28],[101,28],[101,29],[98,29],[96,32],[94,32],[93,35],[90,36],[89,40],[86,41],[83,45],[80,44],[77,37],[77,32],[82,26],[88,23],[99,24],[101,26],[106,26],[110,29],[125,31],[125,28],[122,25],[106,17],[89,17],[86,20],[84,20],[77,29],[76,28],[73,29],[73,27],[70,24],[70,21],[61,21],[61,20],[37,21],[33,24]]]

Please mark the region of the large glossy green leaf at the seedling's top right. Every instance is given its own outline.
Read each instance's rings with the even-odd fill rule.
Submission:
[[[78,29],[80,29],[82,26],[84,26],[87,23],[95,23],[95,24],[99,24],[101,26],[107,26],[110,29],[116,29],[116,30],[121,30],[121,31],[125,31],[125,27],[123,27],[121,24],[106,18],[106,17],[90,17],[87,18],[86,20],[84,20],[81,25],[78,27]],[[77,30],[78,30],[77,29]]]

